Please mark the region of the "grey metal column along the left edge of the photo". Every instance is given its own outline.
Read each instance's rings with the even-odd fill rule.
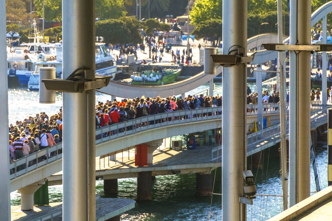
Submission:
[[[8,131],[8,79],[7,79],[7,50],[6,50],[6,1],[0,5],[0,128]],[[2,36],[2,37],[1,37]],[[0,140],[4,143],[0,147],[0,220],[10,219],[10,181],[9,181],[9,158],[8,158],[8,133],[1,133]]]

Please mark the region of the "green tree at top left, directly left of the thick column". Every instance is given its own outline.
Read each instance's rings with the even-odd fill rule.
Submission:
[[[42,17],[42,3],[44,2],[44,18],[48,21],[62,22],[62,0],[35,0],[37,13]]]

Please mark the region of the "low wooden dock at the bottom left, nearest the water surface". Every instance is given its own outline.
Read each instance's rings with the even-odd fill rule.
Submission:
[[[96,202],[96,221],[108,220],[134,207],[135,201],[132,199],[100,198]],[[22,211],[20,205],[11,206],[11,217],[16,221],[50,220],[50,217],[53,217],[53,221],[62,221],[62,202],[34,206],[34,210],[30,211]]]

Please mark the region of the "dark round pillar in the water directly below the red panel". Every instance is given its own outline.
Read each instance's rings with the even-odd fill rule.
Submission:
[[[138,172],[137,200],[152,199],[151,176],[151,171]]]

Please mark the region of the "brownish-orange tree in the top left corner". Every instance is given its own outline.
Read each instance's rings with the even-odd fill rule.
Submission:
[[[6,20],[13,23],[26,20],[25,2],[22,0],[6,0]]]

